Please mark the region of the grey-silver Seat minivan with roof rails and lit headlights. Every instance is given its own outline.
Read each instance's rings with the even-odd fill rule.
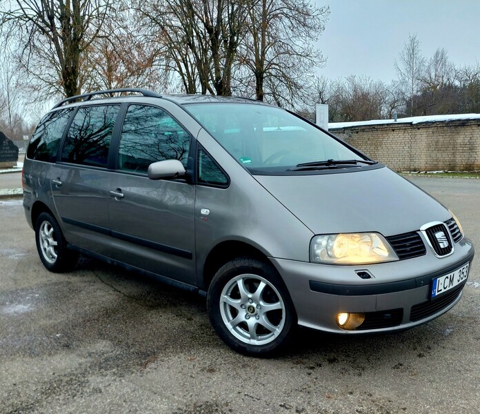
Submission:
[[[128,94],[128,95],[126,95]],[[411,328],[461,299],[474,249],[430,195],[292,112],[149,90],[65,99],[23,164],[49,270],[80,254],[206,295],[235,351],[298,325]]]

